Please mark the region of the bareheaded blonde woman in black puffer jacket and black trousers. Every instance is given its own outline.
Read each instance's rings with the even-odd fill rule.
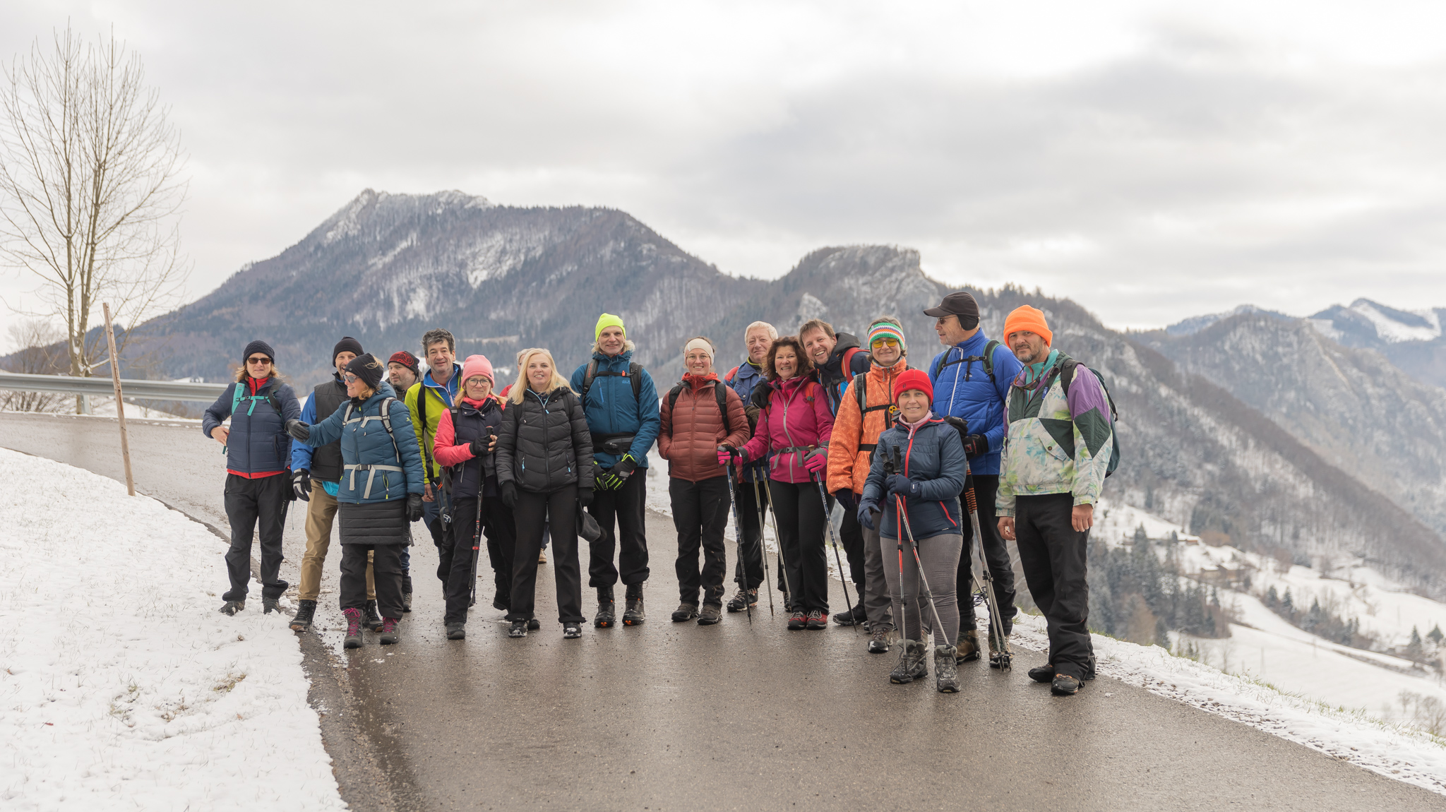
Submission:
[[[562,637],[583,636],[583,581],[577,565],[578,506],[593,501],[593,439],[583,402],[557,374],[552,354],[529,350],[518,364],[497,429],[497,484],[512,509],[518,545],[512,556],[509,637],[526,637],[542,549],[542,522],[552,530]]]

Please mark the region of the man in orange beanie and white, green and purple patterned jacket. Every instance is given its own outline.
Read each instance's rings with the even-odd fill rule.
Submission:
[[[1113,451],[1109,396],[1095,373],[1050,347],[1041,311],[1011,312],[1004,338],[1024,368],[1005,407],[999,535],[1019,546],[1048,627],[1050,660],[1030,678],[1070,695],[1095,676],[1084,548]]]

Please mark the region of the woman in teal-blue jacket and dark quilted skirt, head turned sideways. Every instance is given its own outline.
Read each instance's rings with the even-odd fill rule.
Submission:
[[[337,535],[347,649],[362,646],[367,552],[382,610],[382,644],[398,642],[396,624],[403,611],[402,550],[409,524],[422,517],[422,454],[406,403],[382,380],[385,373],[386,364],[376,355],[357,355],[344,376],[351,400],[314,426],[301,420],[286,423],[291,436],[312,448],[341,441]]]

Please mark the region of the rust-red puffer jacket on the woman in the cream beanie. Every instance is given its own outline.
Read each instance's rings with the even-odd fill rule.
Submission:
[[[658,454],[668,461],[672,478],[700,483],[722,477],[724,470],[719,465],[719,445],[742,448],[750,436],[743,400],[716,374],[698,379],[690,373],[683,376],[683,383],[672,406],[668,405],[671,392],[659,397],[662,428],[658,431]],[[727,426],[719,413],[714,386],[722,386],[727,396]]]

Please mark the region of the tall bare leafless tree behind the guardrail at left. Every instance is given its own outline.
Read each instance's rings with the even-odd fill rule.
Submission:
[[[69,374],[90,377],[106,347],[100,331],[87,337],[101,301],[134,325],[181,293],[184,156],[140,58],[114,35],[82,45],[67,27],[52,45],[36,40],[0,87],[0,259],[39,277],[49,309],[32,315],[64,321]]]

